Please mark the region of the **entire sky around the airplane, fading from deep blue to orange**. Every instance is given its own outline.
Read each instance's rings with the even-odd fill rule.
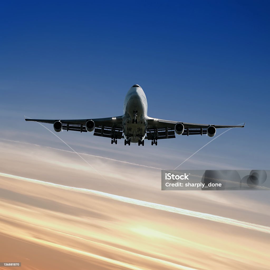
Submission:
[[[89,260],[102,270],[122,269],[108,258],[139,269],[164,269],[167,262],[180,266],[166,269],[268,268],[267,233],[31,182],[269,226],[265,191],[161,191],[160,168],[174,169],[212,138],[177,136],[160,140],[157,147],[149,141],[127,147],[123,140],[111,145],[89,132],[56,134],[45,124],[91,167],[23,115],[121,115],[124,96],[136,83],[146,93],[151,117],[246,122],[244,129],[229,130],[181,169],[269,169],[269,8],[269,1],[1,2],[0,240],[2,246],[21,250],[23,269],[48,269],[41,262],[56,251],[62,254],[59,261],[67,262],[65,254],[81,269],[89,268]],[[25,244],[18,239],[10,244],[6,237]],[[46,256],[42,247],[48,248]],[[28,263],[25,252],[32,250],[38,255]],[[12,260],[13,251],[6,248],[6,258]],[[138,259],[138,254],[148,257]],[[96,255],[104,258],[95,261]]]

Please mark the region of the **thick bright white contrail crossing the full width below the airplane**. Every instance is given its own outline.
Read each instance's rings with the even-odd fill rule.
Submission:
[[[60,184],[40,181],[40,180],[36,180],[36,179],[31,179],[31,178],[15,176],[15,175],[11,175],[11,174],[0,173],[0,176],[13,178],[16,180],[27,181],[27,182],[36,183],[36,184],[41,184],[41,185],[45,185],[45,186],[49,186],[49,187],[61,188],[64,190],[76,191],[76,192],[89,194],[89,195],[95,195],[95,196],[99,196],[99,197],[103,197],[103,198],[112,199],[115,201],[121,201],[123,203],[139,205],[139,206],[143,206],[143,207],[148,207],[148,208],[152,208],[152,209],[156,209],[156,210],[176,213],[176,214],[185,215],[185,216],[189,216],[189,217],[201,218],[204,220],[215,221],[215,222],[219,222],[219,223],[224,223],[224,224],[228,224],[228,225],[233,225],[233,226],[237,226],[237,227],[241,227],[241,228],[246,228],[246,229],[255,230],[255,231],[259,231],[259,232],[265,232],[265,233],[270,234],[270,227],[258,225],[258,224],[253,224],[250,222],[235,220],[235,219],[231,219],[231,218],[226,218],[226,217],[207,214],[207,213],[203,213],[203,212],[187,210],[187,209],[183,209],[183,208],[177,208],[177,207],[163,205],[163,204],[141,201],[141,200],[137,200],[137,199],[133,199],[133,198],[128,198],[128,197],[124,197],[124,196],[120,196],[120,195],[114,195],[114,194],[105,193],[105,192],[97,191],[97,190],[91,190],[91,189],[87,189],[87,188],[69,187],[66,185],[60,185]]]

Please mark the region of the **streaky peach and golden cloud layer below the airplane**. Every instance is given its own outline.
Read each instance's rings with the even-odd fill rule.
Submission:
[[[0,146],[1,253],[22,269],[268,269],[261,195],[161,191],[155,168]]]

